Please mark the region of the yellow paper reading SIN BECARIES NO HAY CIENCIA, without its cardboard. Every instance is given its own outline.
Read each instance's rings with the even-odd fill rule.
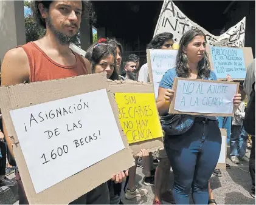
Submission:
[[[154,93],[115,93],[115,98],[129,144],[163,136]]]

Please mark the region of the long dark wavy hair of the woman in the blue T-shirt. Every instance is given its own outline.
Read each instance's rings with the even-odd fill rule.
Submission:
[[[189,78],[190,76],[189,59],[183,52],[183,48],[187,47],[195,36],[204,36],[204,40],[206,41],[206,35],[199,29],[190,29],[184,33],[181,37],[181,41],[179,41],[179,50],[176,57],[176,73],[178,77]],[[198,75],[201,78],[208,78],[210,76],[210,62],[207,52],[204,52],[204,57],[198,62]]]

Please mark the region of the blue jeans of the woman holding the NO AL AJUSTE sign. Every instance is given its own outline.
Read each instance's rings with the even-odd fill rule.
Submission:
[[[195,204],[208,204],[208,181],[221,150],[218,121],[195,123],[182,135],[166,135],[164,145],[175,176],[175,203],[189,204],[192,189]]]

